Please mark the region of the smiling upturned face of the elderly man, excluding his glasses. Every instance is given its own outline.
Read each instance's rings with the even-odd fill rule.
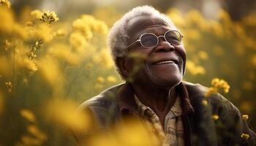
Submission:
[[[158,37],[163,36],[166,31],[177,30],[174,25],[167,24],[154,15],[132,18],[127,23],[127,28],[129,44],[145,33],[152,33]],[[132,45],[132,52],[124,58],[121,70],[128,77],[132,77],[132,82],[171,88],[181,82],[185,60],[186,52],[183,45],[170,45],[163,37],[159,37],[159,44],[152,49],[143,47],[140,43]]]

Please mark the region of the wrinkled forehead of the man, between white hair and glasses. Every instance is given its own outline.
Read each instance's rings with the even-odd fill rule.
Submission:
[[[140,31],[146,28],[156,27],[156,26],[168,26],[170,29],[176,30],[176,26],[173,23],[163,20],[157,15],[138,15],[132,18],[127,23],[127,33],[129,37],[135,36]]]

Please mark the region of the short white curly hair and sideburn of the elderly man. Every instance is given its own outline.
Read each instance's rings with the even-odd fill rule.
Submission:
[[[108,34],[108,46],[110,47],[110,52],[113,57],[113,61],[116,65],[116,71],[121,75],[120,69],[118,68],[117,64],[117,58],[122,58],[126,55],[125,49],[129,45],[129,35],[127,32],[127,23],[132,18],[138,17],[140,15],[155,15],[162,20],[165,21],[170,26],[174,26],[173,22],[168,18],[166,15],[160,13],[157,9],[154,9],[154,7],[151,6],[140,6],[135,7],[124,16],[116,21],[116,23],[113,24],[113,27],[110,28],[110,32]],[[175,26],[174,26],[175,27]]]

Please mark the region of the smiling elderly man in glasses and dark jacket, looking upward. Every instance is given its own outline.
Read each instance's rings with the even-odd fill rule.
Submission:
[[[181,81],[186,65],[182,37],[153,7],[127,12],[108,36],[116,69],[126,82],[79,109],[91,111],[101,130],[136,115],[154,123],[164,135],[163,145],[256,145],[255,133],[230,101],[219,93],[205,98],[207,88]],[[218,124],[212,115],[219,115]]]

